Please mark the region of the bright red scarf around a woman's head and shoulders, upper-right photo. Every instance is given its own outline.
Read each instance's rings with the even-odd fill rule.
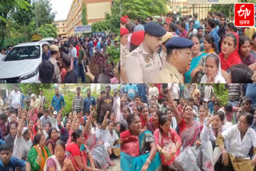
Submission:
[[[224,59],[224,54],[222,53],[222,49],[221,49],[221,53],[218,54],[218,56],[221,59],[222,70],[229,70],[231,66],[235,66],[237,64],[242,63],[241,58],[238,54],[238,45],[239,45],[238,34],[234,32],[232,32],[232,34],[234,34],[235,37],[237,38],[237,47],[234,50],[234,52],[230,54],[230,56],[226,60]],[[222,46],[223,46],[223,42],[222,42]]]

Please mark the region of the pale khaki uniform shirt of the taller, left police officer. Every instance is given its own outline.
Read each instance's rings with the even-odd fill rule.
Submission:
[[[162,62],[157,52],[152,56],[143,48],[138,48],[127,55],[126,74],[130,83],[154,83],[156,74],[161,70]]]

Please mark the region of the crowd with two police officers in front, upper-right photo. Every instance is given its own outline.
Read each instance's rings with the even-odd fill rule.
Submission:
[[[235,27],[221,12],[166,18],[122,16],[123,83],[254,82],[256,26]]]

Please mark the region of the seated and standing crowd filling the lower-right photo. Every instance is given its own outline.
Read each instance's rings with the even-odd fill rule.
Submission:
[[[254,170],[255,84],[122,85],[121,169]]]

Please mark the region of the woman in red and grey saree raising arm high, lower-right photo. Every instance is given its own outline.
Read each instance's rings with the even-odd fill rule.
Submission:
[[[184,117],[182,118],[177,107],[174,105],[170,89],[167,89],[167,92],[168,105],[176,117],[179,136],[182,138],[182,152],[175,159],[174,167],[181,170],[213,171],[214,167],[208,150],[209,147],[199,139],[203,125],[198,121],[194,121],[193,109],[190,105],[184,106]]]

